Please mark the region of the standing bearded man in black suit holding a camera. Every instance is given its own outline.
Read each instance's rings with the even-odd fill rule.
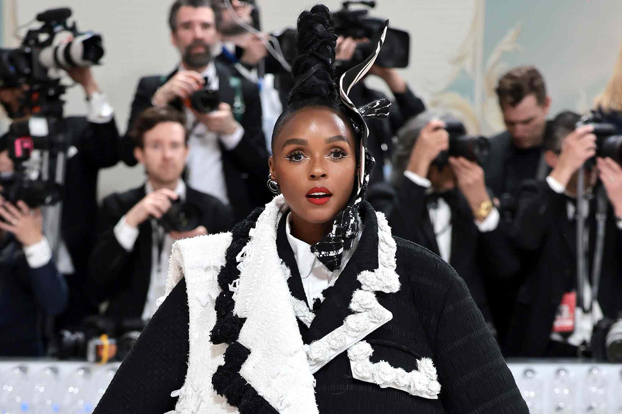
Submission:
[[[238,76],[211,50],[218,42],[215,14],[208,0],[177,0],[169,14],[171,40],[182,62],[165,76],[146,76],[138,83],[128,131],[150,106],[171,104],[187,114],[190,155],[187,182],[197,190],[231,204],[236,221],[269,201],[267,150],[261,129],[261,103],[256,85]],[[207,78],[208,85],[205,85]],[[195,91],[218,90],[220,105],[209,113],[183,108]],[[134,141],[123,139],[122,157],[135,165]]]

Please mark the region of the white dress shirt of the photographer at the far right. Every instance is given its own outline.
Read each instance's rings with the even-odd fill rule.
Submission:
[[[550,189],[555,191],[555,193],[565,193],[565,186],[550,175],[546,178],[546,182],[549,184]],[[585,214],[587,217],[590,211],[590,203],[585,198],[581,202],[585,203]],[[570,200],[567,200],[566,214],[569,220],[574,218],[576,212],[575,210],[575,205],[573,205]],[[585,236],[589,237],[590,235],[586,234]],[[583,285],[583,300],[585,300],[585,303],[590,303],[592,301],[592,287],[590,286],[589,280],[585,280]],[[568,338],[564,338],[559,333],[554,332],[550,334],[550,339],[562,343],[569,343],[574,346],[579,346],[584,342],[590,343],[592,340],[592,330],[594,325],[601,319],[603,319],[603,311],[600,309],[600,305],[598,305],[598,300],[594,300],[592,312],[588,313],[584,313],[580,303],[577,303],[577,306],[575,307],[575,330],[573,333]]]

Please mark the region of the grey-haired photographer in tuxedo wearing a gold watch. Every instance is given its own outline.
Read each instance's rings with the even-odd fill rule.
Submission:
[[[391,183],[376,184],[368,201],[386,214],[395,236],[427,247],[457,270],[490,325],[486,278],[513,276],[518,259],[504,248],[509,243],[497,229],[499,212],[481,167],[464,157],[439,165],[449,142],[445,122],[434,113],[406,122],[398,133]]]

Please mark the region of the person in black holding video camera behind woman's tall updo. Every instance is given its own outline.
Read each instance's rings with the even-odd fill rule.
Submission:
[[[336,70],[338,73],[346,71],[354,62],[351,59],[356,47],[361,42],[368,42],[368,39],[352,39],[351,37],[338,37],[337,54],[335,55]],[[391,90],[395,99],[391,102],[391,113],[387,119],[370,119],[369,127],[369,150],[376,159],[371,182],[382,182],[384,180],[384,165],[391,159],[393,142],[397,131],[404,126],[404,123],[417,114],[425,111],[424,103],[417,98],[407,85],[406,81],[399,75],[395,68],[383,68],[373,65],[369,70],[371,75],[381,78]],[[375,99],[386,98],[381,91],[376,91],[365,85],[364,81],[357,83],[348,93],[355,106],[374,101]]]

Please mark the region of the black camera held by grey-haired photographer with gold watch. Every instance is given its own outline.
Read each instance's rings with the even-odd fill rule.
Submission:
[[[489,145],[485,137],[467,135],[464,124],[457,120],[445,121],[445,130],[449,134],[449,150],[435,160],[439,167],[446,165],[449,157],[464,157],[479,165],[486,162]]]

